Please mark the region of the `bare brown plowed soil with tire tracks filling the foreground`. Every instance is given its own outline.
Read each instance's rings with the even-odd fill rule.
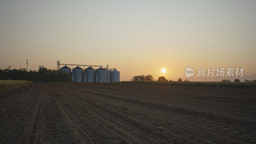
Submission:
[[[0,143],[256,143],[256,89],[34,83],[0,92]]]

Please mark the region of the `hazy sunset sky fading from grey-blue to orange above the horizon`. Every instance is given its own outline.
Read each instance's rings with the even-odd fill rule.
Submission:
[[[0,68],[102,65],[190,81],[185,68],[244,68],[256,79],[255,0],[0,0]],[[165,68],[166,73],[161,69]],[[233,80],[236,77],[228,77]]]

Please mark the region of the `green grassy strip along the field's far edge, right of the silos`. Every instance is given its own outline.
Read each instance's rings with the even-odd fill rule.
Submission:
[[[156,82],[156,81],[122,81],[117,83],[140,83],[140,84],[164,84],[185,86],[208,86],[208,87],[232,87],[232,88],[256,88],[256,83],[243,82]]]

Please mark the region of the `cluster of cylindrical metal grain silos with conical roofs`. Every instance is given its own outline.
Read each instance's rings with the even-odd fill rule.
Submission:
[[[60,70],[67,72],[71,75],[72,82],[100,82],[100,83],[109,83],[109,82],[119,82],[120,81],[120,72],[118,70],[107,70],[105,68],[93,69],[88,67],[83,70],[83,68],[76,67],[72,69],[64,66]]]

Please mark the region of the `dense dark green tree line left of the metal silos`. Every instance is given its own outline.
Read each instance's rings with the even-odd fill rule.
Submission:
[[[71,82],[71,76],[61,70],[39,69],[29,72],[26,69],[0,69],[1,80],[28,80],[36,82]]]

